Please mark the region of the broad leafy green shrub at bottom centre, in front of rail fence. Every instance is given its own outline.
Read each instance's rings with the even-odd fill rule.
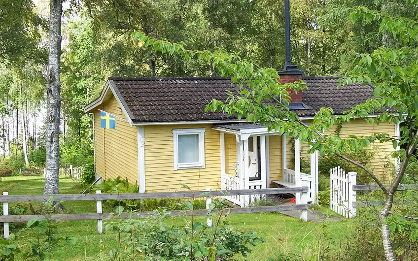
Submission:
[[[194,200],[186,204],[193,211]],[[115,216],[123,211],[115,207]],[[222,213],[218,213],[213,227],[202,223],[207,218],[187,220],[181,226],[167,225],[165,219],[169,212],[164,208],[154,211],[154,215],[146,219],[127,219],[119,222],[105,223],[105,231],[115,231],[119,235],[119,247],[104,247],[98,258],[104,261],[116,260],[208,260],[215,257],[221,260],[232,260],[245,257],[251,252],[249,246],[263,242],[255,232],[237,231],[220,221]],[[215,217],[213,215],[212,217]],[[120,237],[121,233],[126,237]]]

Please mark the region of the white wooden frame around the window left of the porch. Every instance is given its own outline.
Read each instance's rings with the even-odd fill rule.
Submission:
[[[199,162],[178,163],[178,135],[199,135]],[[173,130],[174,142],[174,170],[184,168],[205,168],[205,129],[177,129]]]

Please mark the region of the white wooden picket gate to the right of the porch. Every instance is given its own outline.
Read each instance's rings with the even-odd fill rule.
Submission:
[[[356,172],[346,173],[340,166],[330,170],[330,207],[346,218],[356,215],[356,208],[353,207],[356,201],[356,192],[353,191],[356,179]]]

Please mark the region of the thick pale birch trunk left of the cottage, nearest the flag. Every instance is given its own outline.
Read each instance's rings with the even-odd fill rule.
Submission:
[[[44,194],[58,194],[60,164],[60,56],[61,56],[61,0],[50,0],[49,57],[46,85],[46,175]]]

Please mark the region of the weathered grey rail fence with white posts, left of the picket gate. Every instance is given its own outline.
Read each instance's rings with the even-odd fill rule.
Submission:
[[[250,196],[250,195],[276,195],[276,194],[289,194],[300,193],[302,198],[306,198],[308,193],[308,187],[296,187],[296,188],[275,188],[275,189],[254,189],[254,190],[233,190],[233,191],[184,191],[184,192],[152,192],[152,193],[122,193],[122,194],[102,194],[101,191],[96,191],[96,194],[57,194],[54,195],[54,200],[57,201],[70,201],[70,200],[96,200],[96,213],[81,213],[81,214],[54,214],[51,216],[53,220],[97,220],[98,232],[103,232],[103,219],[105,218],[119,218],[112,213],[102,213],[102,200],[114,199],[145,199],[145,198],[192,198],[192,197],[204,197],[206,198],[206,207],[209,208],[209,204],[212,197],[215,196]],[[8,239],[9,236],[9,222],[28,222],[29,220],[36,218],[39,220],[45,219],[45,215],[8,215],[9,202],[34,202],[34,201],[47,201],[49,195],[8,195],[7,192],[3,192],[3,196],[0,196],[0,202],[3,202],[3,216],[0,216],[0,223],[4,225],[4,238]],[[242,214],[242,213],[261,213],[261,212],[279,212],[289,210],[302,210],[300,218],[303,221],[308,221],[308,208],[307,202],[300,202],[297,205],[276,205],[276,206],[263,206],[263,207],[244,207],[244,208],[231,208],[229,213]],[[208,215],[208,210],[194,210],[193,215]],[[135,218],[146,218],[154,215],[154,212],[134,212]],[[190,216],[191,211],[171,211],[169,216]],[[129,218],[129,213],[122,213],[122,218]],[[208,225],[211,222],[208,220]]]

